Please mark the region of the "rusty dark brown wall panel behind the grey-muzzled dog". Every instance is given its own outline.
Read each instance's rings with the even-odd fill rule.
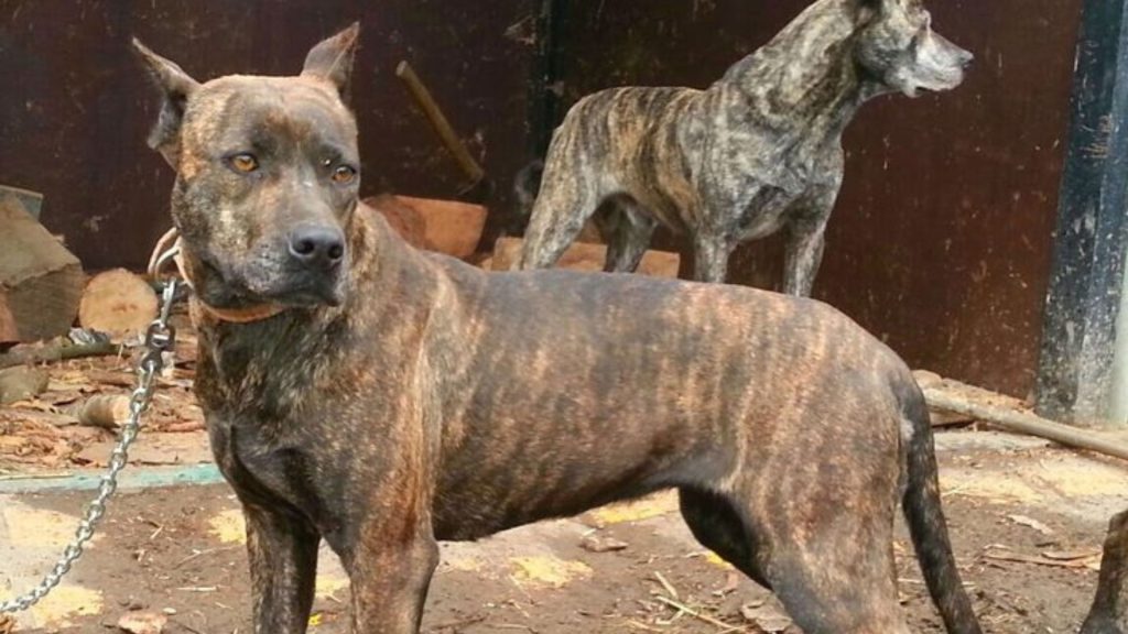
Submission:
[[[704,87],[807,2],[573,0],[565,95],[623,83]],[[955,93],[869,104],[816,294],[915,367],[1025,395],[1050,270],[1079,0],[933,0],[978,62]],[[773,285],[778,240],[738,252]]]

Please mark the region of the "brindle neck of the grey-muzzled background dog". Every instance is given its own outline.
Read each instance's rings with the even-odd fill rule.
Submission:
[[[818,2],[733,64],[713,89],[742,95],[761,124],[838,138],[857,108],[881,93],[854,56],[860,19],[852,2]],[[823,133],[811,134],[817,131]]]

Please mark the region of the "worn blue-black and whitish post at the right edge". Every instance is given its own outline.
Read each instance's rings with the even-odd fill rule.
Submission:
[[[1128,250],[1128,0],[1085,0],[1076,68],[1037,408],[1100,422]]]

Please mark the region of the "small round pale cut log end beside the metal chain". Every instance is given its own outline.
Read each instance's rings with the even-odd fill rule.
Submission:
[[[86,284],[78,308],[83,328],[129,336],[144,332],[157,318],[157,292],[140,275],[124,268],[98,273]]]

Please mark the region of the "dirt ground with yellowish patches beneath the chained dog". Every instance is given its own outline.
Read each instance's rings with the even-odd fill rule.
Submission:
[[[940,437],[950,527],[986,631],[1075,632],[1105,521],[1128,505],[1128,469],[1029,439]],[[0,596],[46,570],[88,496],[0,495]],[[104,527],[18,632],[118,631],[141,615],[173,634],[249,632],[241,520],[224,485],[123,493]],[[442,551],[423,628],[432,634],[796,632],[769,593],[693,540],[670,494]],[[914,628],[941,632],[902,527],[898,554]],[[310,632],[346,632],[347,581],[323,555]]]

